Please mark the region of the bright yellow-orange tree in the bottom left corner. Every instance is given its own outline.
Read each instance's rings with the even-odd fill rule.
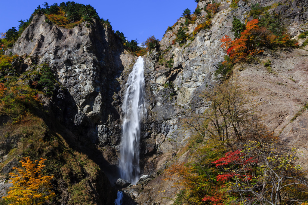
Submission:
[[[3,198],[13,202],[11,205],[40,205],[54,197],[55,193],[51,191],[53,176],[46,176],[43,173],[46,160],[41,158],[35,160],[34,163],[29,157],[21,160],[20,163],[24,169],[13,168],[18,171],[19,175],[10,173],[10,180],[12,180],[10,183],[13,187]]]

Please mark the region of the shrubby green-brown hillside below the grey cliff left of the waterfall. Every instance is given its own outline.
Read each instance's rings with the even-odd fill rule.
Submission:
[[[27,64],[27,71],[22,67],[25,60],[32,62]],[[0,127],[0,146],[6,155],[0,169],[10,169],[10,163],[25,157],[31,161],[43,157],[47,159],[46,174],[54,175],[54,202],[68,201],[61,198],[65,187],[70,204],[94,204],[101,200],[91,187],[99,187],[107,179],[100,176],[101,171],[92,160],[72,149],[63,138],[66,128],[55,116],[59,108],[51,111],[44,107],[45,100],[52,101],[56,92],[64,90],[54,71],[46,63],[37,65],[32,56],[6,56],[2,49],[0,82],[0,115],[7,119]],[[2,177],[9,179],[8,174]]]

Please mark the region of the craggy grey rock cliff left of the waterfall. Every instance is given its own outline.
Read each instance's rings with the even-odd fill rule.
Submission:
[[[121,89],[117,78],[133,57],[124,53],[111,29],[96,21],[64,29],[45,22],[44,15],[35,16],[6,52],[24,56],[24,70],[34,62],[54,70],[65,87],[54,99],[58,117],[76,136],[103,146],[118,143],[120,105],[114,93]]]

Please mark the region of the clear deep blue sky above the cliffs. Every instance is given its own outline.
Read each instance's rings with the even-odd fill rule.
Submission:
[[[49,5],[60,4],[55,0],[1,0],[0,32],[9,28],[18,30],[19,20],[26,20],[37,6],[43,7],[44,2]],[[67,2],[67,1],[65,1]],[[148,36],[154,35],[161,39],[168,26],[172,26],[186,8],[192,12],[197,7],[193,0],[76,0],[76,3],[92,5],[100,18],[109,19],[114,30],[123,32],[131,39],[144,42]]]

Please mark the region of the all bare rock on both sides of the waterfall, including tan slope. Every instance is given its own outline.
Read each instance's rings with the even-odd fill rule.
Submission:
[[[198,5],[205,7],[207,3],[202,1]],[[160,50],[152,50],[144,57],[147,116],[142,123],[140,167],[142,174],[151,175],[153,180],[125,190],[126,197],[131,199],[127,203],[172,203],[170,199],[174,199],[175,193],[163,180],[163,171],[171,162],[184,162],[189,156],[182,148],[190,133],[182,129],[178,119],[188,110],[202,112],[208,107],[198,93],[217,80],[213,71],[225,56],[220,39],[233,36],[233,16],[245,22],[251,20],[252,4],[276,5],[269,12],[280,14],[292,37],[297,38],[307,29],[307,1],[239,1],[236,8],[231,8],[230,3],[221,2],[212,26],[182,46],[172,44],[174,33],[185,21],[179,19],[161,40]],[[205,22],[205,16],[202,10],[196,22],[188,25],[187,32]],[[15,46],[6,51],[10,52],[23,56],[21,72],[33,69],[35,64],[49,64],[64,89],[56,90],[53,98],[40,96],[45,109],[64,125],[63,137],[69,145],[97,163],[112,184],[118,178],[121,101],[136,57],[125,51],[112,30],[99,22],[94,21],[90,27],[82,23],[64,29],[45,22],[44,15],[34,17]],[[243,85],[256,91],[253,99],[262,102],[259,110],[264,123],[281,139],[301,146],[303,151],[308,113],[303,111],[293,118],[308,102],[307,55],[306,50],[299,48],[269,50],[254,64],[240,64],[234,69]],[[268,59],[272,70],[263,65]],[[172,61],[172,66],[166,66],[167,61]],[[299,161],[308,165],[305,157],[300,156]],[[103,191],[104,187],[100,189]],[[110,196],[108,201],[114,197]]]

